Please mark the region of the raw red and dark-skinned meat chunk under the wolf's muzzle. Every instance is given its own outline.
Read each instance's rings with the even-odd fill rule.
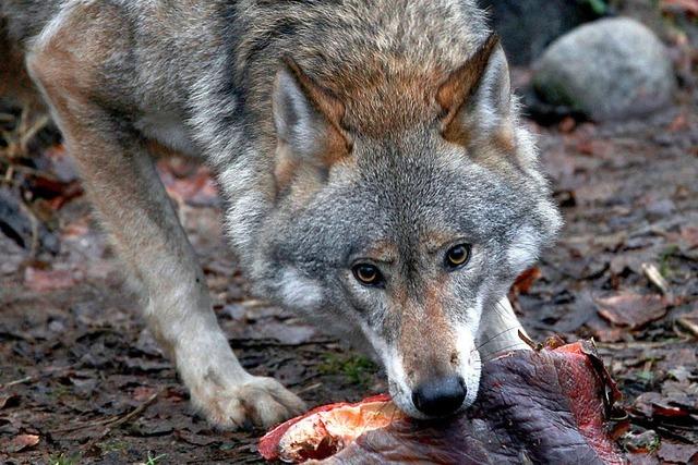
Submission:
[[[517,351],[484,365],[478,401],[464,415],[434,421],[399,416],[348,444],[333,442],[321,428],[317,433],[326,437],[310,442],[324,449],[290,456],[326,464],[621,464],[624,458],[606,431],[618,395],[590,343]],[[260,452],[278,458],[282,438],[286,444],[306,440],[288,436],[300,420],[308,418],[308,424],[318,412],[339,413],[363,403],[328,405],[290,420],[262,439]]]

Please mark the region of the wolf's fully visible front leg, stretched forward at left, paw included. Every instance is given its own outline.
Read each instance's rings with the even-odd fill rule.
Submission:
[[[300,413],[303,403],[294,394],[270,378],[251,376],[239,364],[216,321],[203,272],[142,137],[119,111],[101,107],[110,97],[98,93],[109,83],[98,78],[99,44],[85,38],[109,37],[109,32],[58,29],[56,35],[29,56],[32,76],[146,302],[148,325],[177,364],[193,404],[226,427],[248,423],[267,427]],[[111,90],[110,95],[119,93]]]

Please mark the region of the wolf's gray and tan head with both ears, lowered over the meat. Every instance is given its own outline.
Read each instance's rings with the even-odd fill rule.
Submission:
[[[422,418],[474,401],[481,317],[561,223],[497,40],[437,81],[420,118],[372,131],[287,61],[276,198],[251,267],[262,293],[371,347]]]

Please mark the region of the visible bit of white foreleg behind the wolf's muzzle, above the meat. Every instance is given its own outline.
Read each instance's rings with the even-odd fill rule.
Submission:
[[[519,338],[519,331],[526,334],[506,296],[502,297],[492,308],[484,308],[478,332],[478,346],[482,360],[488,360],[508,351],[530,348]]]

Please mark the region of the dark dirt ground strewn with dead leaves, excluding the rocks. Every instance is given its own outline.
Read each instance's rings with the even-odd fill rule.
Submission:
[[[614,435],[642,464],[698,460],[698,99],[679,100],[645,121],[535,127],[566,225],[512,291],[535,340],[597,341],[628,412]],[[69,158],[31,151],[10,175],[0,164],[29,224],[0,233],[0,462],[260,462],[263,431],[215,431],[190,411]],[[385,392],[368,358],[249,296],[207,171],[159,167],[244,367],[310,405]]]

